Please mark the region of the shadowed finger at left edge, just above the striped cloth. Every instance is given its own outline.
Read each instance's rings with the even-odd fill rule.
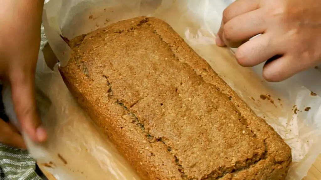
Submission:
[[[10,147],[26,149],[22,136],[2,119],[0,119],[0,142]]]

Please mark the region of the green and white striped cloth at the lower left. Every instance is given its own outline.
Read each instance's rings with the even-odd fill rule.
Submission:
[[[42,25],[41,50],[46,43],[47,40]],[[2,87],[0,88],[2,89]],[[1,95],[0,100],[0,118],[8,121],[8,118],[3,113],[4,108]],[[0,180],[41,180],[35,170],[36,161],[30,156],[28,151],[12,148],[0,143]]]

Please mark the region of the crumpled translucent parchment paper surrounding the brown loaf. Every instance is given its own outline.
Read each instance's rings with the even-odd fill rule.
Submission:
[[[50,0],[45,4],[43,22],[48,42],[64,66],[70,49],[59,34],[71,39],[140,15],[165,20],[291,146],[294,163],[288,179],[301,180],[321,151],[321,98],[316,95],[321,94],[321,73],[312,69],[282,83],[267,83],[261,77],[263,65],[239,66],[230,49],[217,47],[214,42],[221,13],[230,2]],[[55,160],[55,167],[47,170],[57,179],[105,179],[102,177],[123,171],[130,174],[130,168],[121,157],[112,156],[116,150],[110,148],[112,145],[74,102],[57,69],[46,73],[39,76],[42,81],[38,85],[47,89],[53,102],[51,111],[43,119],[50,138],[47,144],[37,146],[28,141],[32,155],[44,163]],[[311,90],[316,94],[311,95]],[[68,161],[67,165],[59,161],[57,153]],[[125,165],[118,169],[112,166],[114,162]]]

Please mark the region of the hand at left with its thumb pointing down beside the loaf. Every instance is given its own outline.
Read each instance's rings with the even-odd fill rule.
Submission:
[[[0,7],[0,77],[11,86],[17,119],[22,131],[34,142],[43,142],[47,138],[35,102],[35,71],[43,3],[44,0],[10,0],[3,1]],[[5,124],[0,126],[0,130],[15,136],[20,142],[20,138],[9,131],[10,127]],[[3,133],[0,131],[0,134]]]

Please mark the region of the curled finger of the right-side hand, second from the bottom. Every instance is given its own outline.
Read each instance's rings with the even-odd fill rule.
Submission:
[[[262,34],[241,45],[235,52],[238,63],[244,67],[253,67],[272,58],[276,54],[284,54],[285,49],[271,40],[272,33]]]

